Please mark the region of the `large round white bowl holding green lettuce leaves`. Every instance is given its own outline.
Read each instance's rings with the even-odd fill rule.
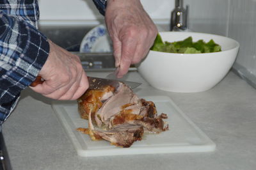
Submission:
[[[163,41],[175,42],[192,36],[198,40],[214,40],[221,52],[204,54],[175,54],[150,50],[138,65],[138,72],[157,89],[180,93],[206,91],[227,75],[234,64],[239,43],[219,35],[193,32],[160,32]]]

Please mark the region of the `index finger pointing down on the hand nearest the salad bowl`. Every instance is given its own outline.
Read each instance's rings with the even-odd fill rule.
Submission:
[[[120,70],[116,77],[121,78],[128,72],[131,65],[134,53],[136,51],[137,43],[134,38],[127,38],[122,41],[122,58],[120,63]]]

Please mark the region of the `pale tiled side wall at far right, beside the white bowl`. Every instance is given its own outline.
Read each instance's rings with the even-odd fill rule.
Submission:
[[[230,1],[228,36],[240,43],[236,63],[256,75],[256,1]]]

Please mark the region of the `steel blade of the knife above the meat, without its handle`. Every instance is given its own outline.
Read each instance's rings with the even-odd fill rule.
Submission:
[[[100,89],[104,86],[113,86],[114,88],[118,88],[120,82],[124,82],[131,89],[137,88],[141,85],[140,82],[132,82],[132,81],[117,81],[115,79],[104,79],[99,77],[88,77],[89,88],[90,89]]]

